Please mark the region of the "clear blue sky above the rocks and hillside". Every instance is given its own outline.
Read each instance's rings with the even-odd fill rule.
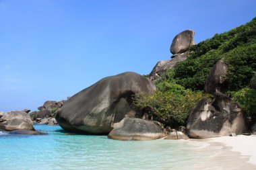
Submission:
[[[0,111],[66,99],[109,75],[150,73],[172,38],[249,22],[255,0],[0,0]]]

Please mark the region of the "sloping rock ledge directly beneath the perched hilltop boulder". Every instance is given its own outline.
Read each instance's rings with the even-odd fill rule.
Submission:
[[[150,79],[154,81],[160,78],[160,75],[164,71],[174,68],[174,66],[177,65],[178,62],[181,62],[186,59],[187,59],[187,53],[183,53],[183,54],[177,54],[171,60],[159,61],[158,63],[156,63],[154,69],[151,71]]]

